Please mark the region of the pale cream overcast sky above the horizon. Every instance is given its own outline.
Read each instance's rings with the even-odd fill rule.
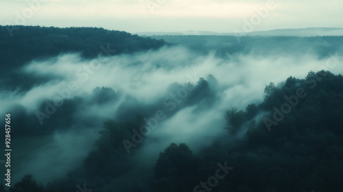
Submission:
[[[126,32],[343,27],[342,0],[6,0],[0,25],[104,27]],[[257,10],[268,9],[258,15]],[[252,21],[251,21],[252,19]],[[246,20],[246,21],[245,21]],[[255,21],[255,23],[253,23]]]

